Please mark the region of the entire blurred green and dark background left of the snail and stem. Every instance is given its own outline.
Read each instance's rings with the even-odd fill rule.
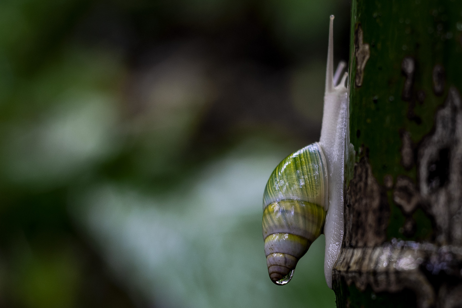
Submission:
[[[267,274],[261,199],[319,138],[347,0],[0,1],[0,307],[334,307]]]

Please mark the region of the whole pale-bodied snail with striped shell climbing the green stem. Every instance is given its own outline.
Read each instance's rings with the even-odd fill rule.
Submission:
[[[334,75],[334,16],[330,16],[326,90],[319,142],[305,146],[274,169],[263,193],[262,232],[268,273],[287,284],[298,260],[322,233],[326,236],[324,274],[332,288],[332,269],[343,238],[343,182],[348,156],[348,96],[340,62]]]

